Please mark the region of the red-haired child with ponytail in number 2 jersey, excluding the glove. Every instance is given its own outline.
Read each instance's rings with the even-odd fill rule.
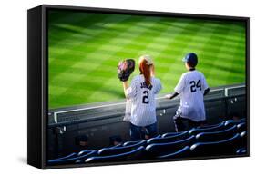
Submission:
[[[130,137],[142,140],[157,136],[156,94],[162,89],[161,82],[155,78],[154,64],[149,55],[139,58],[140,74],[130,85],[123,82],[126,98],[130,100]]]

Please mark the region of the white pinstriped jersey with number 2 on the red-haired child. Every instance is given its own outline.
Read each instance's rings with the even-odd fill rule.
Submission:
[[[130,122],[136,126],[148,126],[157,121],[155,94],[159,93],[162,85],[159,79],[151,78],[151,87],[147,87],[143,75],[135,76],[126,96],[131,102]]]

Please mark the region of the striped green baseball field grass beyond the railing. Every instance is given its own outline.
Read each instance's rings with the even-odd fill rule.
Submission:
[[[239,22],[49,12],[49,108],[124,99],[118,62],[141,54],[154,58],[161,93],[173,91],[190,52],[210,87],[245,82],[245,41]]]

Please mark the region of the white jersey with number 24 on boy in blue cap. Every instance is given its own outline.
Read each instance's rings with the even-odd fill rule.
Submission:
[[[204,121],[205,110],[203,93],[208,88],[203,73],[197,70],[183,73],[174,91],[180,95],[180,106],[178,111],[181,117],[192,121]]]

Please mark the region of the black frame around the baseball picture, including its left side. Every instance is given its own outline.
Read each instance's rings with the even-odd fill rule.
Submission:
[[[106,14],[139,14],[150,16],[171,16],[179,18],[241,21],[246,24],[246,121],[247,152],[243,155],[197,157],[176,160],[205,160],[250,156],[250,18],[208,14],[178,14],[169,12],[137,11],[127,9],[108,9],[64,5],[40,5],[27,11],[27,163],[39,169],[73,168],[85,166],[103,166],[173,160],[120,161],[94,164],[72,164],[49,166],[46,163],[47,114],[48,114],[48,48],[47,48],[47,11],[70,10]]]

